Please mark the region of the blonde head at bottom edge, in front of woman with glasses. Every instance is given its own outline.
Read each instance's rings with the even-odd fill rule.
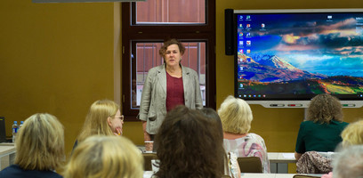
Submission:
[[[94,135],[81,142],[69,160],[65,178],[142,178],[141,151],[123,136]]]

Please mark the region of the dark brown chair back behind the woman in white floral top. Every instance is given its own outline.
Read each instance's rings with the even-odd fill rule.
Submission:
[[[258,157],[239,157],[237,161],[241,173],[262,173],[262,163]]]

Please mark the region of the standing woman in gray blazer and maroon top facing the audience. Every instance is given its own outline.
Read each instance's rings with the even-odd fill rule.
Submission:
[[[203,108],[197,72],[181,65],[184,52],[185,47],[176,39],[165,41],[159,51],[164,64],[149,69],[138,116],[142,121],[145,141],[154,140],[166,112],[175,106]]]

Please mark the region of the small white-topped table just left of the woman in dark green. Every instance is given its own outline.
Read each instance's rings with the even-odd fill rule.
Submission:
[[[270,160],[271,173],[286,174],[288,173],[288,164],[296,163],[294,153],[268,152],[267,155]]]

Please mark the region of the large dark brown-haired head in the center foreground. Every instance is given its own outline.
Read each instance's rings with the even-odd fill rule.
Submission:
[[[155,138],[158,178],[222,177],[222,139],[200,111],[181,105],[170,110]]]

